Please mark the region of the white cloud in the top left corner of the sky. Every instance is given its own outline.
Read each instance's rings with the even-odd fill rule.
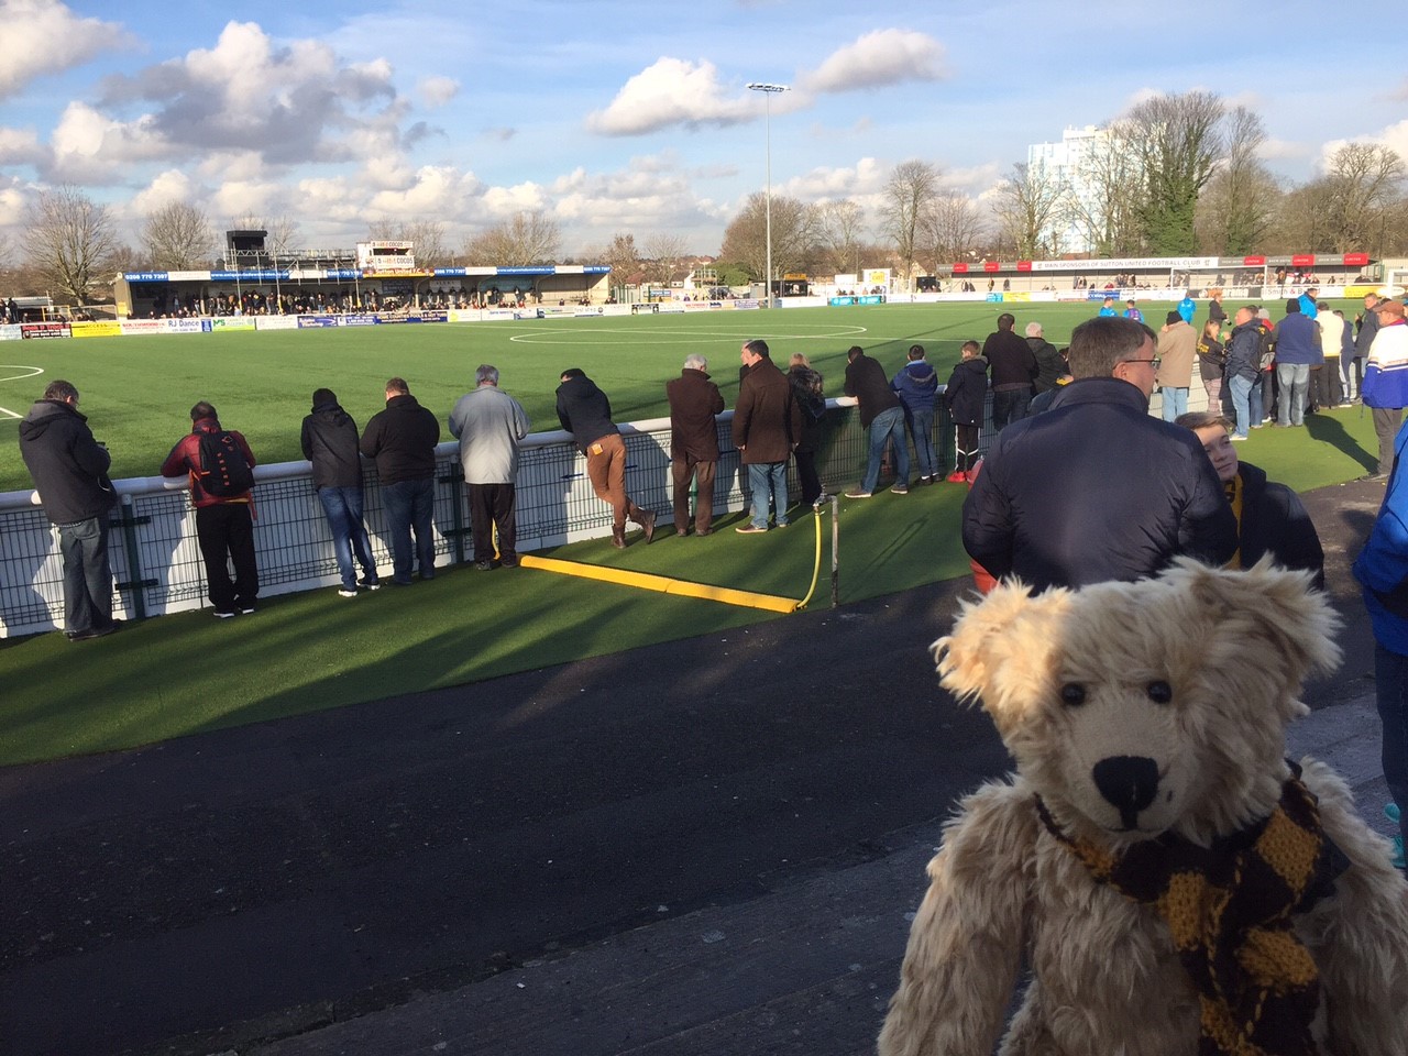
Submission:
[[[56,0],[0,0],[0,99],[35,77],[80,66],[104,51],[128,46],[132,37],[117,23],[82,18]]]

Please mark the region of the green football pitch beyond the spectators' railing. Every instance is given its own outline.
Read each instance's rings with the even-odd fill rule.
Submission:
[[[1157,329],[1173,306],[1143,307]],[[1236,306],[1226,307],[1231,314]],[[924,345],[946,379],[962,344],[981,341],[1002,311],[1017,317],[1019,334],[1038,321],[1046,339],[1060,346],[1097,306],[890,304],[8,342],[0,348],[0,491],[31,487],[15,429],[58,377],[77,386],[93,434],[113,452],[113,476],[144,477],[156,474],[190,429],[190,406],[203,398],[215,404],[225,428],[246,435],[260,462],[290,462],[303,458],[300,424],[320,386],[337,391],[365,425],[384,406],[386,379],[401,376],[444,422],[473,387],[474,367],[493,363],[501,387],[527,408],[532,429],[545,432],[559,428],[555,391],[566,367],[584,369],[601,386],[618,422],[639,421],[665,417],[665,382],[696,352],[708,358],[732,406],[739,346],[763,338],[784,369],[791,353],[807,353],[826,379],[826,396],[841,396],[852,345],[879,359],[887,375],[904,365],[911,345]],[[448,431],[442,439],[449,439]]]

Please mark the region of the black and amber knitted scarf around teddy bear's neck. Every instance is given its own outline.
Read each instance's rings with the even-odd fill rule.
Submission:
[[[1270,817],[1201,848],[1163,834],[1114,855],[1066,835],[1036,797],[1046,829],[1102,884],[1152,905],[1198,993],[1198,1056],[1315,1056],[1319,973],[1291,917],[1333,890],[1347,859],[1321,831],[1294,770]]]

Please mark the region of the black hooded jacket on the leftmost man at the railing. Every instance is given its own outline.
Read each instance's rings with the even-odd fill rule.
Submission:
[[[63,400],[38,400],[30,408],[20,422],[20,456],[54,524],[87,521],[117,503],[107,448]]]

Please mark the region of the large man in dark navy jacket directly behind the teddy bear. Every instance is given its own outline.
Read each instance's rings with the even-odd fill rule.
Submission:
[[[1012,422],[963,504],[963,546],[994,577],[1036,590],[1153,576],[1180,553],[1224,565],[1236,518],[1202,445],[1149,417],[1153,332],[1076,327],[1050,410]]]

